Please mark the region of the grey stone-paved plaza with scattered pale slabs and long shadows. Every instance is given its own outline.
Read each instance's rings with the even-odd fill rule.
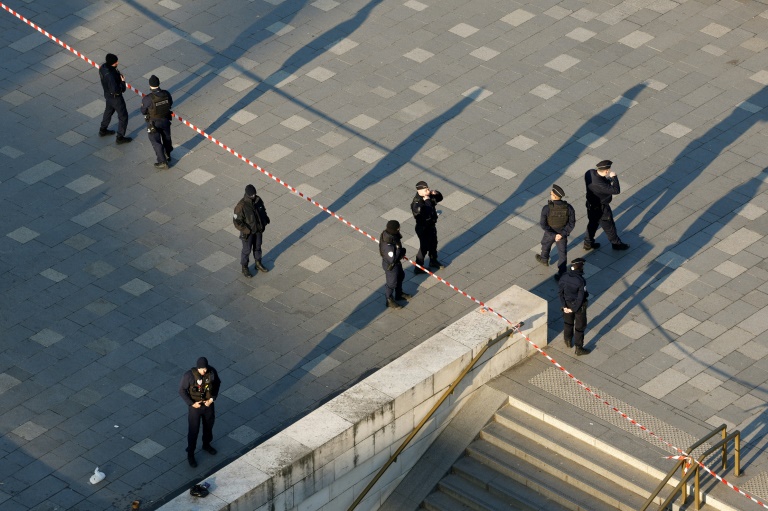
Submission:
[[[768,4],[737,0],[13,0],[98,63],[377,236],[417,240],[443,193],[440,274],[478,298],[550,300],[534,260],[553,183],[592,295],[576,375],[764,447],[768,427]],[[0,11],[0,507],[151,509],[476,307],[406,270],[386,310],[378,247],[193,130],[153,168],[97,134],[97,71]],[[113,126],[116,118],[113,119]],[[626,252],[584,254],[584,172],[610,159]],[[240,274],[232,209],[272,223]],[[510,318],[515,320],[517,318]],[[216,367],[214,446],[187,464],[177,394]],[[106,480],[88,478],[96,467]],[[745,501],[745,508],[751,506]]]

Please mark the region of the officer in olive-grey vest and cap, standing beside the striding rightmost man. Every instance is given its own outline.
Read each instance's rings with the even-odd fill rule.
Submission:
[[[544,266],[549,266],[549,251],[552,244],[557,246],[557,273],[555,280],[563,276],[568,265],[568,235],[576,225],[576,211],[573,206],[563,200],[565,192],[557,185],[552,185],[547,205],[541,208],[539,225],[544,229],[541,238],[541,255],[536,254],[536,260]]]

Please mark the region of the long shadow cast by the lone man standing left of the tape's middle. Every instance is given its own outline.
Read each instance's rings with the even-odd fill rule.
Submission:
[[[358,178],[356,182],[351,184],[338,199],[327,206],[327,209],[338,213],[341,208],[346,206],[355,198],[355,196],[359,195],[371,184],[391,175],[403,165],[410,163],[413,157],[416,156],[432,137],[435,136],[440,128],[451,119],[461,114],[465,108],[477,99],[481,92],[482,90],[477,90],[474,93],[463,97],[448,110],[421,125],[416,131],[400,142],[397,147],[387,153],[384,158],[379,160],[376,165]],[[273,256],[273,254],[276,254],[276,256],[273,256],[273,259],[276,259],[276,257],[279,257],[279,255],[285,252],[289,247],[296,244],[326,218],[329,218],[327,213],[318,211],[312,218],[304,222],[303,225],[294,229],[288,236],[283,238],[269,251],[269,255]]]

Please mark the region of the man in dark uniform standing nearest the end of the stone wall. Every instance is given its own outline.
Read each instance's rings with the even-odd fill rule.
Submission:
[[[571,269],[560,278],[558,289],[563,310],[563,338],[565,345],[576,345],[577,355],[587,355],[584,330],[587,329],[587,281],[584,280],[584,259],[571,261]],[[575,333],[574,333],[575,331]]]

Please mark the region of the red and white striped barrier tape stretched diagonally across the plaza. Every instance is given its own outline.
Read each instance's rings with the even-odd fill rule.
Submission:
[[[13,9],[11,9],[10,7],[8,7],[8,6],[7,6],[7,5],[5,5],[4,3],[0,3],[0,7],[2,7],[2,8],[3,8],[5,11],[9,12],[10,14],[14,15],[14,16],[15,16],[16,18],[18,18],[19,20],[21,20],[21,21],[23,21],[24,23],[26,23],[26,24],[27,24],[27,25],[29,25],[30,27],[34,28],[35,30],[37,30],[37,31],[38,31],[38,32],[40,32],[41,34],[45,35],[46,37],[48,37],[49,39],[51,39],[52,41],[54,41],[55,43],[57,43],[57,44],[58,44],[59,46],[61,46],[62,48],[65,48],[66,50],[68,50],[68,51],[70,51],[70,52],[74,53],[75,55],[77,55],[78,57],[80,57],[81,59],[83,59],[84,61],[88,62],[88,63],[89,63],[90,65],[92,65],[93,67],[95,67],[95,68],[97,68],[97,69],[99,68],[99,64],[97,64],[97,63],[96,63],[96,62],[94,62],[93,60],[89,59],[88,57],[86,57],[85,55],[83,55],[82,53],[80,53],[79,51],[75,50],[74,48],[72,48],[71,46],[69,46],[68,44],[66,44],[64,41],[62,41],[61,39],[59,39],[58,37],[56,37],[56,36],[54,36],[54,35],[52,35],[52,34],[48,33],[48,32],[47,32],[47,31],[45,31],[45,30],[43,30],[41,27],[39,27],[38,25],[36,25],[36,24],[35,24],[35,23],[33,23],[32,21],[28,20],[27,18],[25,18],[24,16],[22,16],[22,15],[21,15],[21,14],[19,14],[18,12],[14,11]],[[128,89],[130,89],[130,90],[134,91],[136,94],[138,94],[138,95],[140,95],[140,96],[142,96],[142,97],[144,97],[144,95],[145,95],[143,92],[141,92],[139,89],[137,89],[137,88],[133,87],[133,86],[132,86],[132,85],[130,85],[129,83],[126,83],[126,87],[127,87]],[[278,178],[277,176],[273,175],[272,173],[270,173],[270,172],[267,172],[266,170],[264,170],[263,168],[261,168],[261,167],[260,167],[259,165],[257,165],[256,163],[252,162],[251,160],[249,160],[248,158],[246,158],[246,157],[245,157],[245,156],[243,156],[242,154],[240,154],[240,153],[238,153],[237,151],[235,151],[234,149],[230,148],[229,146],[227,146],[226,144],[224,144],[224,143],[223,143],[223,142],[221,142],[220,140],[217,140],[216,138],[212,137],[211,135],[209,135],[208,133],[206,133],[206,132],[205,132],[205,131],[203,131],[202,129],[198,128],[197,126],[195,126],[194,124],[192,124],[192,123],[191,123],[191,122],[189,122],[188,120],[186,120],[186,119],[183,119],[181,116],[177,115],[176,113],[174,113],[174,114],[172,114],[172,115],[173,115],[174,117],[176,117],[176,119],[178,119],[178,120],[179,120],[179,122],[181,122],[182,124],[184,124],[184,125],[188,126],[189,128],[193,129],[193,130],[194,130],[195,132],[197,132],[199,135],[202,135],[203,137],[207,138],[208,140],[210,140],[210,141],[211,141],[211,142],[213,142],[214,144],[218,145],[219,147],[221,147],[222,149],[224,149],[224,150],[225,150],[225,151],[227,151],[228,153],[232,154],[233,156],[235,156],[235,157],[239,158],[240,160],[242,160],[242,161],[243,161],[243,162],[245,162],[246,164],[250,165],[251,167],[253,167],[253,168],[254,168],[254,169],[256,169],[257,171],[261,172],[261,173],[262,173],[262,174],[264,174],[265,176],[269,177],[270,179],[272,179],[272,180],[273,180],[273,181],[275,181],[276,183],[278,183],[278,184],[282,185],[283,187],[287,188],[288,190],[290,190],[290,191],[291,191],[291,193],[293,193],[293,194],[295,194],[295,195],[297,195],[297,196],[301,197],[302,199],[306,200],[307,202],[309,202],[309,203],[313,204],[314,206],[317,206],[318,208],[320,208],[321,210],[323,210],[325,213],[328,213],[328,214],[329,214],[330,216],[332,216],[333,218],[335,218],[335,219],[337,219],[337,220],[341,221],[341,222],[342,222],[342,223],[344,223],[344,224],[345,224],[347,227],[350,227],[350,228],[354,229],[355,231],[357,231],[357,232],[359,232],[360,234],[364,235],[365,237],[369,238],[371,241],[374,241],[374,242],[378,243],[378,241],[379,241],[379,240],[378,240],[376,237],[374,237],[374,236],[372,236],[372,235],[368,234],[368,233],[367,233],[367,232],[365,232],[364,230],[360,229],[359,227],[355,226],[354,224],[352,224],[352,223],[351,223],[351,222],[349,222],[348,220],[344,219],[343,217],[341,217],[340,215],[338,215],[336,212],[334,212],[334,211],[332,211],[332,210],[330,210],[330,209],[326,208],[325,206],[323,206],[323,205],[322,205],[322,204],[320,204],[319,202],[315,201],[315,200],[314,200],[314,199],[312,199],[311,197],[309,197],[309,196],[307,196],[307,195],[304,195],[302,192],[298,191],[298,190],[297,190],[296,188],[294,188],[293,186],[290,186],[288,183],[286,183],[286,182],[285,182],[285,181],[283,181],[282,179]],[[513,331],[517,331],[517,332],[519,332],[519,333],[520,333],[520,335],[522,335],[522,336],[523,336],[523,338],[524,338],[524,339],[525,339],[525,340],[528,342],[528,344],[530,344],[530,345],[531,345],[531,346],[532,346],[532,347],[533,347],[533,348],[534,348],[536,351],[538,351],[540,354],[542,354],[544,357],[546,357],[546,359],[547,359],[547,360],[549,360],[549,361],[550,361],[552,364],[554,364],[554,365],[555,365],[555,367],[557,367],[559,370],[563,371],[563,372],[564,372],[564,373],[565,373],[565,374],[566,374],[566,375],[567,375],[569,378],[571,378],[571,379],[572,379],[572,380],[573,380],[573,381],[574,381],[574,382],[575,382],[577,385],[579,385],[581,388],[583,388],[585,391],[587,391],[589,394],[591,394],[591,395],[592,395],[592,396],[593,396],[595,399],[601,400],[601,402],[602,402],[603,404],[605,404],[606,406],[610,407],[610,408],[611,408],[611,410],[613,410],[613,411],[615,411],[616,413],[618,413],[619,415],[621,415],[621,416],[622,416],[624,419],[626,419],[627,421],[629,421],[631,424],[633,424],[633,425],[637,426],[637,427],[638,427],[640,430],[644,431],[644,432],[645,432],[645,433],[647,433],[648,435],[650,435],[650,436],[652,436],[652,437],[656,438],[657,440],[659,440],[660,442],[662,442],[662,443],[663,443],[663,444],[665,444],[666,446],[668,446],[668,447],[670,447],[670,448],[672,448],[672,449],[675,449],[677,452],[680,452],[680,453],[683,453],[683,454],[684,454],[684,451],[683,451],[683,449],[681,449],[681,448],[679,448],[679,447],[676,447],[675,445],[673,445],[673,444],[671,444],[671,443],[667,442],[666,440],[664,440],[663,438],[661,438],[660,436],[658,436],[657,434],[655,434],[653,431],[649,430],[648,428],[646,428],[645,426],[643,426],[642,424],[640,424],[639,422],[637,422],[636,420],[632,419],[630,416],[628,416],[627,414],[625,414],[624,412],[622,412],[621,410],[619,410],[618,408],[616,408],[615,406],[613,406],[611,403],[609,403],[608,401],[604,400],[602,397],[600,397],[600,395],[596,394],[596,393],[595,393],[595,392],[594,392],[594,391],[593,391],[591,388],[589,388],[589,387],[588,387],[588,386],[587,386],[587,385],[586,385],[584,382],[582,382],[581,380],[579,380],[578,378],[576,378],[576,377],[575,377],[575,376],[574,376],[572,373],[570,373],[570,372],[569,372],[569,371],[568,371],[568,370],[567,370],[565,367],[563,367],[562,365],[560,365],[560,364],[559,364],[559,363],[558,363],[558,362],[557,362],[557,361],[556,361],[554,358],[552,358],[551,356],[549,356],[549,355],[548,355],[548,354],[547,354],[547,353],[546,353],[546,352],[545,352],[543,349],[541,349],[539,346],[537,346],[537,345],[536,345],[536,343],[534,343],[534,342],[533,342],[533,341],[532,341],[532,340],[531,340],[531,339],[530,339],[530,338],[529,338],[527,335],[525,335],[525,334],[522,332],[522,330],[520,330],[520,328],[519,328],[519,323],[513,323],[512,321],[508,320],[506,317],[504,317],[504,316],[503,316],[502,314],[500,314],[499,312],[497,312],[497,311],[493,310],[491,307],[487,306],[487,305],[486,305],[484,302],[482,302],[482,301],[478,300],[477,298],[475,298],[474,296],[470,295],[469,293],[467,293],[467,292],[465,292],[465,291],[462,291],[461,289],[459,289],[458,287],[454,286],[453,284],[451,284],[451,283],[450,283],[450,282],[448,282],[447,280],[443,279],[442,277],[439,277],[437,274],[435,274],[435,273],[433,273],[433,272],[429,271],[427,268],[425,268],[425,267],[423,267],[423,266],[421,266],[421,265],[417,264],[415,261],[413,261],[413,260],[411,260],[411,259],[408,259],[408,258],[406,258],[406,261],[410,262],[410,263],[411,263],[413,266],[415,266],[415,267],[417,267],[417,268],[419,268],[419,269],[423,270],[424,272],[426,272],[427,274],[429,274],[429,276],[436,278],[438,281],[440,281],[440,282],[442,282],[443,284],[445,284],[446,286],[450,287],[451,289],[453,289],[453,290],[454,290],[454,291],[456,291],[457,293],[460,293],[460,294],[462,294],[464,297],[468,298],[469,300],[472,300],[472,301],[473,301],[473,302],[475,302],[476,304],[480,305],[480,307],[482,307],[482,308],[483,308],[483,309],[485,309],[486,311],[493,313],[493,314],[494,314],[496,317],[498,317],[498,318],[499,318],[499,319],[501,319],[502,321],[505,321],[506,323],[508,323],[508,324],[509,324],[509,325],[512,327],[512,330],[513,330]],[[745,493],[743,490],[741,490],[741,489],[739,489],[739,488],[737,488],[737,487],[733,486],[731,483],[727,482],[727,481],[726,481],[725,479],[723,479],[721,476],[719,476],[719,475],[715,474],[715,473],[714,473],[712,470],[710,470],[710,469],[709,469],[708,467],[706,467],[705,465],[703,465],[703,464],[701,464],[701,463],[699,463],[699,465],[701,465],[701,467],[702,467],[704,470],[706,470],[708,473],[710,473],[710,474],[711,474],[713,477],[717,478],[719,481],[721,481],[722,483],[726,484],[726,485],[727,485],[729,488],[731,488],[731,489],[733,489],[733,490],[735,490],[735,491],[737,491],[737,492],[741,493],[742,495],[744,495],[744,496],[745,496],[745,497],[747,497],[748,499],[752,500],[753,502],[756,502],[757,504],[760,504],[760,505],[761,505],[761,506],[763,506],[764,508],[768,509],[768,505],[766,505],[766,504],[764,504],[764,503],[760,502],[759,500],[755,499],[755,498],[754,498],[754,497],[752,497],[751,495],[749,495],[749,494]]]

